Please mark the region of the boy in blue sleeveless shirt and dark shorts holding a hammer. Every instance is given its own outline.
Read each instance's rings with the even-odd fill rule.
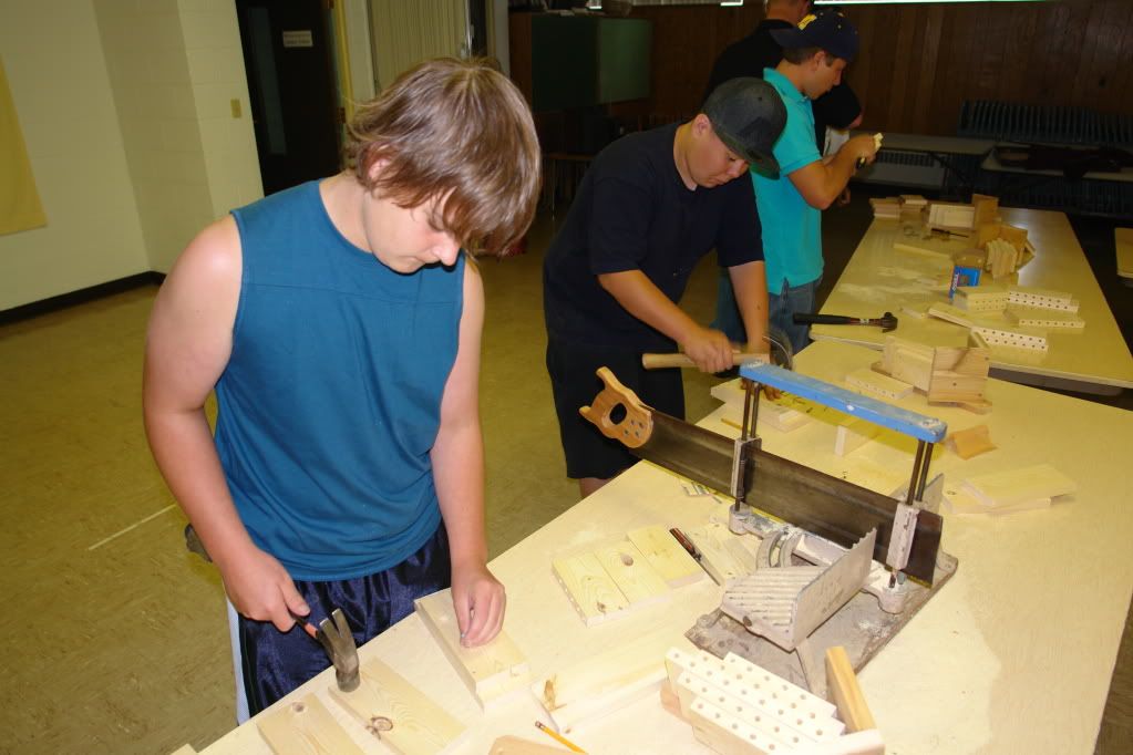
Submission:
[[[461,247],[501,251],[530,224],[531,117],[489,66],[429,61],[359,110],[348,157],[202,231],[150,323],[146,432],[221,570],[241,719],[327,667],[297,619],[341,608],[361,644],[451,584],[466,645],[503,623],[484,290]]]

